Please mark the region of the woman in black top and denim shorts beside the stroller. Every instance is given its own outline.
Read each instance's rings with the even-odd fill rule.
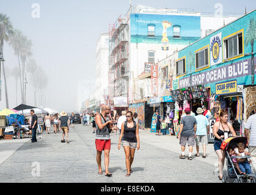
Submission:
[[[219,180],[222,180],[223,176],[223,166],[225,161],[225,153],[221,150],[221,139],[224,139],[225,133],[232,133],[233,137],[236,137],[235,130],[233,129],[230,122],[227,122],[227,119],[229,118],[229,114],[225,112],[224,110],[221,111],[219,114],[220,121],[216,121],[213,125],[213,135],[215,136],[214,139],[214,149],[216,154],[218,155],[219,161],[218,161],[218,167],[219,167]]]

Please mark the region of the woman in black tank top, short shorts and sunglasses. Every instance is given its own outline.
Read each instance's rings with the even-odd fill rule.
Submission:
[[[126,118],[127,121],[123,122],[121,127],[118,149],[121,147],[121,140],[123,138],[124,153],[126,155],[126,176],[130,176],[135,149],[140,149],[140,137],[138,133],[138,122],[133,121],[132,112],[127,112]]]

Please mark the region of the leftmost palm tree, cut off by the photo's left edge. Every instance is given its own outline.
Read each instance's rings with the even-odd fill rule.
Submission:
[[[3,50],[4,50],[4,41],[9,41],[12,34],[13,34],[13,26],[10,23],[9,17],[0,13],[0,57],[3,57],[3,54],[4,54],[4,52],[3,52]],[[0,63],[0,68],[1,68],[1,63]],[[7,85],[6,85],[6,78],[5,78],[5,72],[4,72],[4,62],[2,62],[2,71],[4,73],[6,108],[9,108]]]

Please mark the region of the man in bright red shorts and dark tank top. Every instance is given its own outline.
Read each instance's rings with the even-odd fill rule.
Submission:
[[[105,157],[105,176],[112,176],[110,172],[108,172],[108,164],[109,164],[109,153],[110,153],[110,132],[109,130],[114,130],[113,121],[110,120],[107,115],[110,113],[110,108],[108,105],[102,105],[101,113],[97,114],[95,117],[96,122],[96,150],[97,150],[97,163],[99,167],[98,174],[103,174],[101,169],[101,154],[104,151]]]

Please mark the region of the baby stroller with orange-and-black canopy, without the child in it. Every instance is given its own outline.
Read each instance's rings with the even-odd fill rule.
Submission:
[[[233,158],[250,158],[251,156],[246,155],[244,157],[241,157],[241,156],[230,157],[230,155],[229,155],[229,149],[234,150],[235,147],[237,147],[237,144],[240,142],[243,142],[244,146],[246,146],[247,138],[245,138],[245,137],[227,138],[226,140],[222,141],[222,144],[221,144],[221,149],[225,151],[226,158],[227,158],[227,175],[231,179],[233,179],[233,183],[247,182],[247,179],[243,179],[244,175],[240,175],[239,172],[236,170],[232,159]],[[252,177],[251,183],[256,183],[256,177],[255,177],[253,169],[252,169],[252,174],[247,174],[247,176]],[[222,182],[223,183],[227,182],[227,176],[223,175]]]

